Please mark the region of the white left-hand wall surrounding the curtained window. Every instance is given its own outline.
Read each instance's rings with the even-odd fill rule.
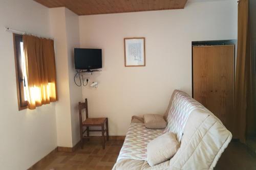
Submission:
[[[55,103],[18,111],[13,37],[5,26],[49,37],[49,10],[31,0],[0,1],[0,169],[27,169],[57,147]]]

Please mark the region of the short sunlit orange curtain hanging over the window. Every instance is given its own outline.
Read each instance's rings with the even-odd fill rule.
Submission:
[[[28,108],[57,100],[54,42],[31,35],[23,36],[26,61]]]

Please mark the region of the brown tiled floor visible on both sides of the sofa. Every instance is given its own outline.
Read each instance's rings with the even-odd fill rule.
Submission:
[[[112,169],[123,140],[110,140],[102,149],[100,140],[84,143],[84,149],[73,153],[56,152],[35,169],[104,170]],[[222,154],[215,169],[256,169],[256,156],[244,144],[231,142]]]

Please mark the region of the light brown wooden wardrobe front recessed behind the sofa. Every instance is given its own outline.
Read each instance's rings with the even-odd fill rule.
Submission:
[[[194,99],[232,131],[234,45],[193,47]]]

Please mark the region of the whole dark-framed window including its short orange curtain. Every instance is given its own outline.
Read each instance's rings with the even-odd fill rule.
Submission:
[[[18,109],[35,109],[57,101],[54,41],[13,34],[13,42]]]

